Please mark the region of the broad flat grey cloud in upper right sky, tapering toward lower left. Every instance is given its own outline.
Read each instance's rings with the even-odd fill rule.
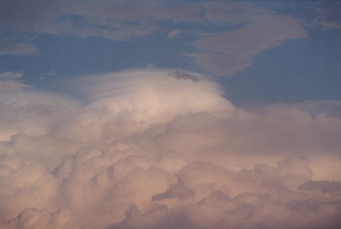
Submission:
[[[194,42],[201,51],[187,56],[212,74],[230,75],[243,70],[258,53],[280,46],[284,40],[308,37],[303,21],[290,15],[276,15],[248,4],[218,2],[205,6],[206,17],[215,23],[242,23],[237,29],[209,34]]]

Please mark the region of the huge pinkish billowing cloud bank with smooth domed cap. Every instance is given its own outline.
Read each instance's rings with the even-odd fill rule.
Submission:
[[[1,228],[341,227],[339,101],[246,111],[174,72],[1,95]]]

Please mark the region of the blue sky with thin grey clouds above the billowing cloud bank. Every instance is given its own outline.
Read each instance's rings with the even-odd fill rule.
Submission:
[[[340,1],[36,0],[0,8],[2,84],[63,92],[61,78],[154,63],[209,75],[235,104],[341,99]]]

